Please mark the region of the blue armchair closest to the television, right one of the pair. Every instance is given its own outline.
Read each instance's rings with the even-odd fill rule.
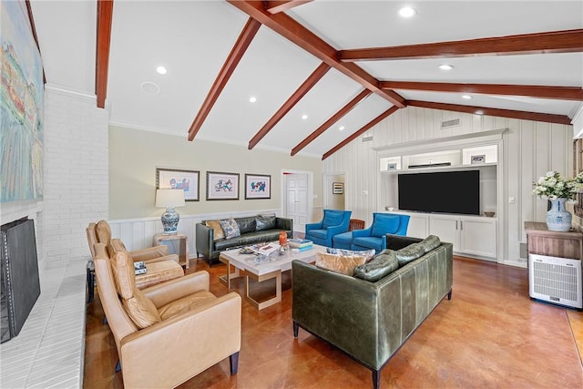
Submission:
[[[409,215],[373,213],[373,224],[364,230],[353,230],[352,250],[374,249],[378,254],[386,249],[386,234],[406,235]]]

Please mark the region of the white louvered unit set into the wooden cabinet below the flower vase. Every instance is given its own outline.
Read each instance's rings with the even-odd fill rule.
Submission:
[[[581,261],[528,254],[530,297],[570,308],[583,308]]]

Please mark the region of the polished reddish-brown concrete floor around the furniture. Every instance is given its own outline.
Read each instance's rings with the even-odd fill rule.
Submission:
[[[224,265],[190,261],[190,271],[210,271],[210,291]],[[289,274],[283,277],[290,287]],[[266,289],[270,285],[261,285]],[[234,289],[243,295],[243,282]],[[259,290],[258,292],[264,292]],[[292,334],[292,294],[258,312],[243,300],[239,373],[226,359],[180,388],[368,388],[371,373],[312,335]],[[85,388],[121,388],[113,336],[102,324],[97,297],[87,305]],[[181,334],[195,344],[201,333]],[[527,270],[455,257],[454,292],[394,354],[382,388],[582,388],[583,312],[528,298]]]

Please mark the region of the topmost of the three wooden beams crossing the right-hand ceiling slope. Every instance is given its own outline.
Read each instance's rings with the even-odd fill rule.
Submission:
[[[581,51],[583,51],[583,29],[576,29],[422,45],[341,50],[338,52],[338,58],[343,62],[353,62],[384,59],[579,53]]]

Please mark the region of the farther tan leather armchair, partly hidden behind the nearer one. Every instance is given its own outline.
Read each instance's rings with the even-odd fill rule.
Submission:
[[[89,223],[86,229],[87,243],[91,251],[91,257],[95,259],[95,245],[104,243],[108,251],[111,250],[111,228],[106,220],[99,220],[97,223]],[[123,242],[121,243],[123,245]],[[129,251],[134,261],[167,261],[173,260],[179,262],[177,254],[168,253],[168,247],[164,245],[148,247],[142,250]],[[112,253],[109,252],[109,255]]]

